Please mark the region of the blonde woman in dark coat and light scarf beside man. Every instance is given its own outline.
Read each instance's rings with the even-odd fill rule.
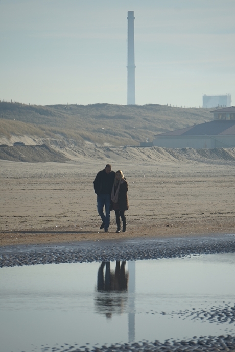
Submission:
[[[125,210],[128,210],[128,198],[127,198],[128,184],[124,178],[124,174],[121,170],[116,171],[111,200],[112,200],[112,209],[115,211],[116,215],[116,232],[121,232],[121,223],[120,216],[123,222],[123,232],[126,231],[126,217]]]

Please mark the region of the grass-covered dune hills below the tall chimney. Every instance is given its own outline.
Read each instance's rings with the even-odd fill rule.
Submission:
[[[138,145],[155,134],[213,119],[203,108],[148,105],[37,106],[0,102],[0,134],[88,140],[112,145]],[[15,121],[14,121],[15,120]]]

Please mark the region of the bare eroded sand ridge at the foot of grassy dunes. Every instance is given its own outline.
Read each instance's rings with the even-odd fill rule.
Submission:
[[[25,146],[14,146],[15,141]],[[134,163],[207,163],[233,164],[235,148],[193,149],[193,148],[161,148],[139,146],[97,145],[87,141],[79,143],[72,139],[37,138],[34,136],[14,136],[10,140],[0,137],[0,159],[23,162],[65,162],[89,161]],[[8,146],[1,146],[8,145]]]

